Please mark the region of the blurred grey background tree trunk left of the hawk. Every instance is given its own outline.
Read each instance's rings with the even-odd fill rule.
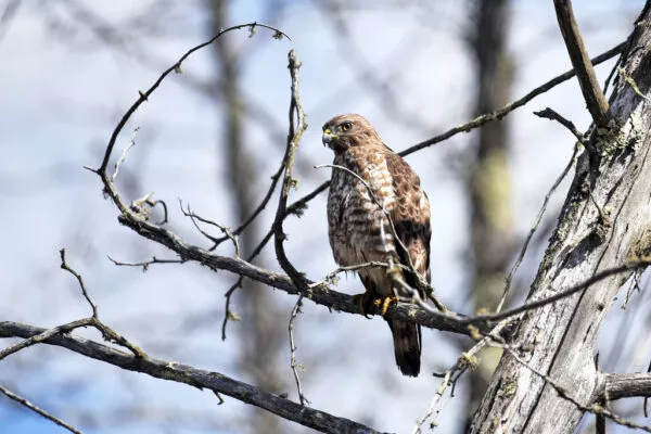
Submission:
[[[217,34],[228,26],[229,2],[210,0],[208,5],[213,12],[213,33]],[[245,119],[240,92],[240,56],[228,43],[228,39],[221,40],[214,47],[220,72],[217,80],[221,90],[225,119],[224,142],[220,143],[217,153],[226,152],[231,197],[235,208],[235,221],[239,224],[247,219],[256,206],[253,188],[256,178],[255,159],[248,155],[244,145]],[[245,233],[239,237],[242,257],[248,257],[258,239],[259,231],[254,221],[246,228]],[[235,296],[239,297],[238,308],[242,318],[238,323],[241,332],[239,339],[241,370],[263,391],[281,393],[286,390],[286,384],[278,372],[279,353],[286,348],[284,342],[286,324],[279,322],[281,315],[272,299],[272,293],[266,291],[261,283],[245,279]],[[289,321],[289,316],[286,320]],[[270,434],[286,432],[282,427],[281,419],[272,413],[258,408],[250,411],[253,412],[247,424],[251,432]]]

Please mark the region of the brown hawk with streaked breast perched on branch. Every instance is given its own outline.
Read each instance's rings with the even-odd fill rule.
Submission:
[[[369,261],[408,265],[430,281],[430,202],[420,187],[418,175],[382,142],[371,124],[355,114],[335,116],[323,125],[323,144],[334,151],[334,165],[357,174],[370,187],[376,201],[384,206],[395,227],[395,233],[407,251],[394,239],[386,215],[373,201],[369,189],[357,177],[334,167],[328,196],[329,238],[334,259],[341,266]],[[399,271],[400,272],[400,271]],[[404,281],[418,289],[418,279],[407,270]],[[366,288],[360,294],[365,312],[383,306],[385,312],[394,294],[409,296],[386,268],[367,267],[358,270]],[[421,292],[424,298],[424,294]],[[405,375],[420,371],[420,326],[386,320],[393,333],[396,363]]]

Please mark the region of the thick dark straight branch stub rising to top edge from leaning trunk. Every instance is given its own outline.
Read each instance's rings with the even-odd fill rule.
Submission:
[[[588,111],[592,115],[592,120],[599,128],[608,128],[608,122],[610,115],[608,114],[608,102],[601,91],[599,81],[597,81],[597,75],[595,68],[588,58],[586,47],[584,44],[578,25],[574,18],[574,11],[572,10],[572,0],[553,0],[553,5],[557,12],[557,18],[559,21],[559,27],[563,39],[565,40],[565,47],[567,47],[567,53],[570,53],[570,60],[572,66],[576,72],[576,78],[580,90],[586,100]]]

